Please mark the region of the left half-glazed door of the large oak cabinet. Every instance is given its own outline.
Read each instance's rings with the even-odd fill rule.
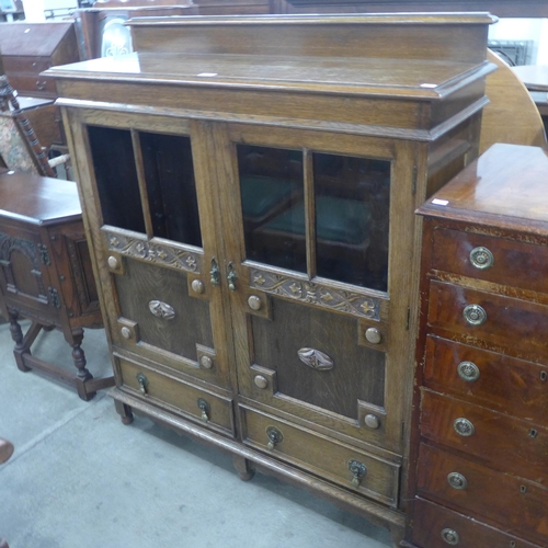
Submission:
[[[79,110],[68,117],[89,163],[79,176],[117,363],[230,389],[212,178],[199,135],[187,121],[161,116]],[[147,393],[147,381],[133,377]]]

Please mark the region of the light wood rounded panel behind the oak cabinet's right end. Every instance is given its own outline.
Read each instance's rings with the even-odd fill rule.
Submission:
[[[543,118],[527,88],[490,49],[488,60],[498,70],[487,78],[486,94],[491,103],[483,109],[480,155],[495,142],[546,147]]]

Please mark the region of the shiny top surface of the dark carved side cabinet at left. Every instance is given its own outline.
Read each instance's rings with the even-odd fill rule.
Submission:
[[[0,172],[0,218],[52,225],[81,215],[76,183],[30,173]]]

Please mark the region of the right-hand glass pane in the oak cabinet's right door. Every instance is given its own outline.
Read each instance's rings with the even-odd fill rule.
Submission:
[[[387,290],[390,162],[313,155],[318,276]]]

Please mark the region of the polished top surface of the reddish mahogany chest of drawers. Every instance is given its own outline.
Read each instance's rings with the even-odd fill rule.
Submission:
[[[419,209],[427,217],[548,230],[548,150],[493,145]]]

